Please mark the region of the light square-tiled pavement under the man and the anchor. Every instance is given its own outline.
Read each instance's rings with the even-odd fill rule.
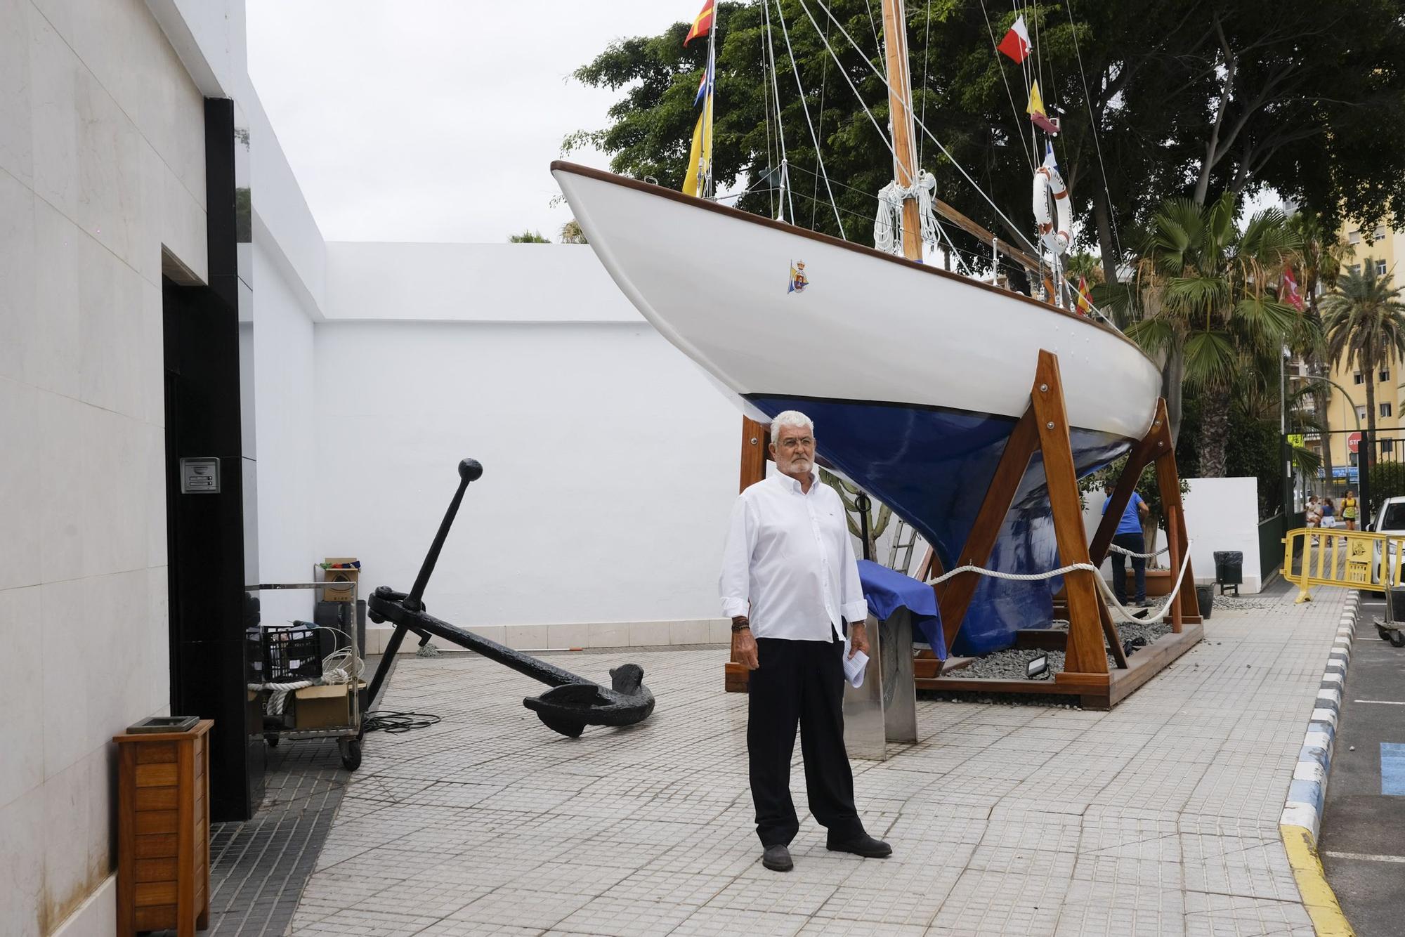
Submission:
[[[521,707],[520,674],[409,659],[385,708],[444,721],[368,739],[291,933],[1307,936],[1277,820],[1335,593],[1215,610],[1113,712],[919,701],[922,742],[854,761],[894,857],[828,853],[797,791],[790,874],[759,861],[721,649],[554,656],[596,679],[635,660],[659,700],[580,739]]]

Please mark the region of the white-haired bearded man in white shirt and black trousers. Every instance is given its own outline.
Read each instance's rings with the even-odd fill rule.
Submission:
[[[844,621],[849,655],[868,650],[844,506],[815,473],[815,428],[804,413],[771,421],[770,451],[780,475],[738,496],[718,586],[732,649],[750,670],[746,753],[762,864],[792,868],[797,722],[809,809],[829,829],[829,848],[882,858],[892,848],[864,832],[844,752]]]

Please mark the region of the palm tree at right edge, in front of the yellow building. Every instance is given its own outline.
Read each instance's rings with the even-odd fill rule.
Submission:
[[[1371,445],[1366,447],[1361,472],[1375,462],[1375,375],[1391,361],[1405,355],[1405,302],[1401,288],[1391,284],[1392,274],[1377,274],[1375,261],[1366,258],[1366,271],[1354,268],[1322,298],[1322,325],[1326,330],[1328,360],[1346,362],[1366,378],[1366,427]]]

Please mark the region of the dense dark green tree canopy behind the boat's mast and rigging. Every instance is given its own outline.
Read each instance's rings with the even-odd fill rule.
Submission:
[[[1405,225],[1405,25],[1394,0],[1066,0],[1024,14],[1035,48],[1026,66],[1062,121],[1055,155],[1085,222],[1082,244],[1100,249],[1104,273],[1172,197],[1203,205],[1272,187],[1329,228],[1345,216]],[[718,4],[714,176],[719,191],[749,190],[740,208],[777,214],[784,139],[795,221],[839,233],[822,157],[844,235],[871,237],[874,195],[892,178],[875,128],[887,132],[888,121],[875,17],[874,0]],[[993,49],[1014,11],[909,0],[906,20],[917,117],[1028,236],[1030,173],[1043,153],[1024,115],[1024,69]],[[607,126],[572,133],[563,149],[594,145],[617,173],[681,187],[707,56],[704,42],[683,48],[686,31],[676,22],[621,39],[577,69],[580,81],[621,97]],[[939,195],[1010,236],[920,129],[919,139]]]

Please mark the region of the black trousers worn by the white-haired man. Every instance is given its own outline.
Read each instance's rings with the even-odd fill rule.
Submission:
[[[844,643],[757,638],[756,648],[760,667],[750,673],[746,753],[762,846],[787,846],[799,829],[790,795],[797,722],[811,813],[842,839],[858,836],[864,827],[844,752]]]

